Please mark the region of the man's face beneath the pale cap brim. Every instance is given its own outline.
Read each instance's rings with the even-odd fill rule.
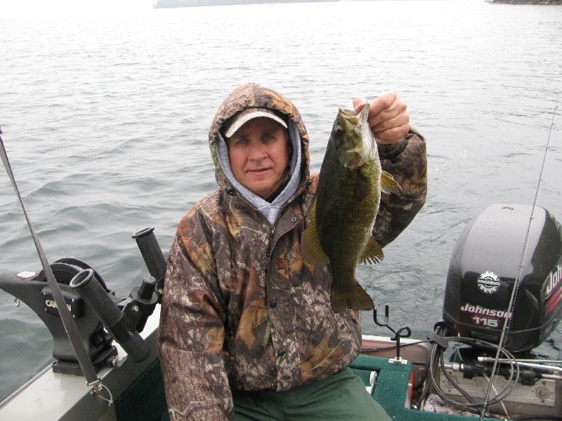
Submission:
[[[282,185],[290,149],[279,123],[267,117],[251,119],[227,144],[230,168],[244,187],[265,199]]]

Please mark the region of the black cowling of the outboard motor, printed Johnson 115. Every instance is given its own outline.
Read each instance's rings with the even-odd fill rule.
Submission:
[[[521,263],[521,282],[504,348],[540,345],[562,316],[562,231],[544,208],[495,204],[457,241],[447,275],[443,318],[450,332],[499,343]],[[521,262],[525,238],[528,242]]]

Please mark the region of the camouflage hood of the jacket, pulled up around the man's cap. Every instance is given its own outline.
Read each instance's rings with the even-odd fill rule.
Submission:
[[[298,131],[301,138],[301,180],[308,179],[310,175],[309,164],[310,156],[308,152],[308,133],[301,118],[301,114],[296,107],[287,100],[283,95],[273,91],[273,89],[265,88],[257,83],[246,83],[242,86],[235,88],[235,90],[228,95],[226,100],[223,101],[218,111],[214,116],[211,128],[209,129],[209,147],[211,149],[211,156],[215,165],[215,177],[219,187],[226,188],[230,185],[228,182],[221,163],[218,160],[217,147],[218,142],[221,141],[219,131],[228,119],[233,117],[237,112],[250,107],[265,107],[273,109],[281,114],[284,114],[287,121],[294,123],[294,130]],[[289,123],[289,126],[292,126]]]

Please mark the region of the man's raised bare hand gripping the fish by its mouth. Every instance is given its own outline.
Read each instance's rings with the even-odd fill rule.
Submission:
[[[365,106],[365,98],[353,99],[355,111],[360,112]],[[370,102],[369,125],[377,143],[392,145],[403,140],[408,133],[410,116],[406,103],[394,92],[382,92]]]

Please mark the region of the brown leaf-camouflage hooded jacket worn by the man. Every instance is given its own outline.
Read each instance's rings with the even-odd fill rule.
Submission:
[[[301,184],[271,225],[237,194],[218,163],[218,130],[247,107],[292,119],[301,135]],[[304,261],[300,242],[318,175],[297,109],[255,84],[219,107],[209,131],[219,189],[181,220],[169,253],[158,347],[171,420],[232,420],[234,390],[292,389],[321,380],[360,353],[358,312],[334,314],[326,267]],[[380,146],[384,170],[403,188],[381,200],[375,238],[392,241],[426,197],[424,139]]]

